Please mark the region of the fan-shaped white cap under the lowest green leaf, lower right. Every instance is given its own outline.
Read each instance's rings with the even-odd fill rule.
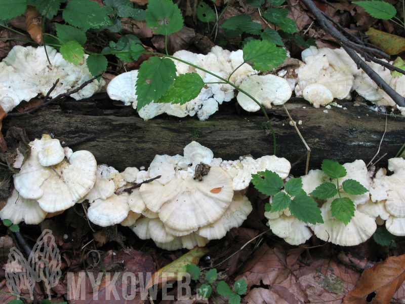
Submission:
[[[345,197],[346,194],[341,194]],[[331,212],[331,198],[320,208],[324,223],[309,225],[315,235],[323,240],[342,246],[354,246],[367,241],[376,231],[377,224],[374,218],[355,210],[350,222],[345,225],[335,219]]]

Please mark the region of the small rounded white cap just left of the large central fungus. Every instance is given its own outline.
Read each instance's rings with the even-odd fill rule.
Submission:
[[[89,219],[102,227],[111,226],[123,221],[130,209],[128,205],[129,194],[113,194],[105,200],[96,199],[87,210]]]

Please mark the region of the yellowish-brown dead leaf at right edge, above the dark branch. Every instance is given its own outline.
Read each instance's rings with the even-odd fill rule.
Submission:
[[[382,48],[388,55],[397,55],[405,51],[405,38],[372,27],[366,32],[366,35],[370,36],[370,41]]]

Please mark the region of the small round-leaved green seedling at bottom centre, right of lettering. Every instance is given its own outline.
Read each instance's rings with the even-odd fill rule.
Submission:
[[[239,304],[240,295],[244,294],[248,289],[248,284],[245,280],[239,280],[233,285],[234,292],[230,289],[225,281],[219,281],[215,283],[218,279],[218,273],[216,269],[211,269],[206,273],[205,279],[201,278],[201,271],[194,264],[187,264],[184,270],[191,275],[192,280],[203,280],[205,284],[201,285],[198,290],[198,294],[203,296],[204,299],[209,298],[212,295],[213,287],[216,285],[217,293],[221,296],[229,296],[229,304]]]

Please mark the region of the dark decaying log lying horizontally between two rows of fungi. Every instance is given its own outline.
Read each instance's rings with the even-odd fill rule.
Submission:
[[[355,107],[351,101],[339,104],[347,109],[332,107],[325,113],[325,108],[315,109],[299,98],[286,104],[293,119],[302,121],[298,127],[311,147],[309,169],[320,168],[323,159],[342,164],[362,159],[368,163],[378,150],[385,116],[362,106]],[[8,117],[3,121],[3,129],[25,128],[30,139],[52,133],[64,141],[96,134],[94,139],[72,146],[73,151],[90,150],[99,164],[117,170],[148,167],[156,154],[182,155],[193,134],[198,136],[196,141],[213,150],[214,157],[223,160],[236,160],[248,154],[256,158],[272,155],[271,133],[261,127],[264,116],[260,112],[240,110],[233,101],[221,105],[220,111],[205,122],[196,117],[167,115],[145,122],[132,107],[120,105],[121,102],[109,100],[105,94],[79,101],[68,99],[39,111],[34,117]],[[294,127],[289,125],[284,108],[276,106],[268,114],[276,133],[276,155],[296,162],[306,149]],[[405,142],[404,126],[405,118],[388,117],[379,153],[387,156],[379,166],[386,166],[387,160]],[[302,175],[304,168],[305,158],[292,173]]]

